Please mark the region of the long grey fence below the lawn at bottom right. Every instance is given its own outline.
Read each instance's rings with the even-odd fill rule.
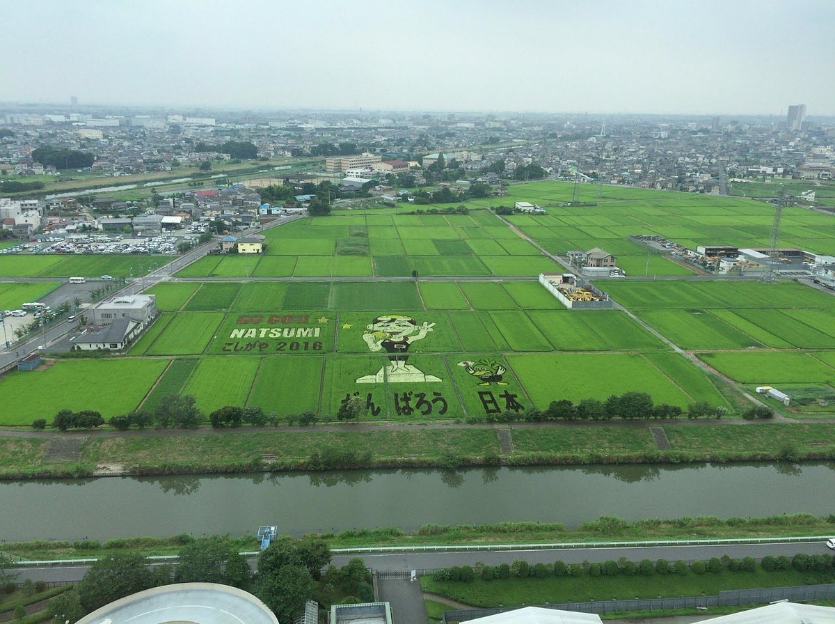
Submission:
[[[762,605],[788,600],[792,602],[832,600],[835,583],[804,585],[797,587],[767,587],[752,590],[720,591],[718,596],[683,596],[680,598],[638,598],[635,600],[608,600],[590,602],[564,602],[558,605],[541,605],[544,609],[579,611],[582,613],[613,613],[620,611],[665,611],[670,609],[698,609],[709,606]],[[514,609],[458,609],[444,611],[443,622],[468,621],[476,617],[493,616]]]

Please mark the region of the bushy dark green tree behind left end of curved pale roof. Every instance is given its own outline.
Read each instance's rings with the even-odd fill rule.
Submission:
[[[144,557],[138,553],[123,553],[95,561],[78,583],[78,596],[84,609],[95,611],[109,602],[153,586],[153,577],[145,566]]]

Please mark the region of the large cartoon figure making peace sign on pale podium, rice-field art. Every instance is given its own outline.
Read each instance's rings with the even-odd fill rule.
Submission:
[[[407,363],[412,342],[426,337],[434,327],[435,323],[428,322],[418,325],[415,319],[402,314],[382,315],[368,323],[362,332],[362,339],[372,352],[388,353],[389,364],[373,375],[357,379],[357,383],[441,381],[440,378],[423,373]]]

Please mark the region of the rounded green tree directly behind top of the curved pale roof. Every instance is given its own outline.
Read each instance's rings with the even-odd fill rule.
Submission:
[[[246,560],[220,537],[194,540],[180,549],[175,568],[178,583],[220,583],[246,590],[250,586],[250,568]]]

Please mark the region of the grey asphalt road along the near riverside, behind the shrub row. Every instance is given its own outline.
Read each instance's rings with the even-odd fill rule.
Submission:
[[[366,566],[374,570],[434,570],[451,566],[473,566],[477,561],[488,566],[501,563],[511,564],[514,560],[528,561],[528,563],[581,563],[582,561],[617,561],[626,557],[630,561],[650,559],[666,559],[667,561],[707,560],[711,557],[731,556],[735,559],[751,556],[761,559],[764,556],[794,556],[802,552],[807,555],[824,555],[831,551],[823,542],[780,542],[774,544],[741,544],[741,545],[676,545],[676,546],[640,546],[625,548],[571,548],[571,549],[533,549],[533,550],[472,550],[472,551],[438,551],[428,552],[394,552],[394,553],[339,553],[333,557],[331,563],[344,566],[355,557],[362,558]],[[253,558],[254,559],[254,558]],[[251,559],[251,563],[253,563]],[[154,566],[166,565],[153,564]],[[16,568],[20,572],[19,581],[32,579],[33,581],[48,582],[77,582],[89,570],[89,565],[69,564],[66,566],[21,566]]]

